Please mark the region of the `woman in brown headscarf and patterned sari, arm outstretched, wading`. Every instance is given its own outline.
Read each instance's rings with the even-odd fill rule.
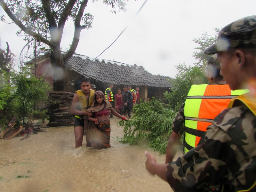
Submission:
[[[93,95],[93,101],[87,112],[93,113],[92,116],[88,116],[88,120],[85,120],[85,126],[90,127],[91,132],[91,143],[92,147],[97,149],[110,148],[110,121],[109,121],[109,110],[114,116],[127,120],[126,117],[118,114],[112,105],[106,101],[105,95],[101,91],[96,91]]]

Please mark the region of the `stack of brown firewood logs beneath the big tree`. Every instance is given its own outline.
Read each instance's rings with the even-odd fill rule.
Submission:
[[[75,117],[70,113],[71,104],[75,93],[51,91],[48,93],[47,115],[50,120],[47,126],[71,126],[75,123]]]

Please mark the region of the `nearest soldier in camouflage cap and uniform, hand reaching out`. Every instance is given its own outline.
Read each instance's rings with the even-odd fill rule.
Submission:
[[[175,192],[256,191],[256,16],[224,27],[217,43],[204,53],[218,53],[221,74],[231,90],[250,92],[232,99],[197,147],[176,161],[157,164],[146,151],[146,168]]]

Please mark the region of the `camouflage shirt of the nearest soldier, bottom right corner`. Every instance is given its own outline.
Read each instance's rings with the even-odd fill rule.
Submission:
[[[256,191],[256,117],[243,104],[224,109],[166,177],[175,192]]]

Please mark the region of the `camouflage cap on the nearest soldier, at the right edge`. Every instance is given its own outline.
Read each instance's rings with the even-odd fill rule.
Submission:
[[[221,29],[217,43],[204,50],[211,55],[230,48],[256,48],[256,15],[236,20]]]

